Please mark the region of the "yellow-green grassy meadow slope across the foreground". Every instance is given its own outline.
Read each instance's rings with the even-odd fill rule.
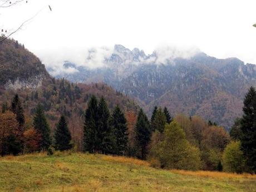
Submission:
[[[0,157],[0,191],[256,191],[256,176],[202,175],[104,155]]]

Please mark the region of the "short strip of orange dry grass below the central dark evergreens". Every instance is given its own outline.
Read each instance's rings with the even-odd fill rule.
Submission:
[[[125,156],[102,156],[102,160],[105,161],[111,161],[111,162],[117,162],[117,163],[126,163],[126,164],[135,164],[135,165],[144,165],[144,166],[150,166],[150,163],[147,161],[142,161],[139,159],[131,158],[131,157],[125,157]]]

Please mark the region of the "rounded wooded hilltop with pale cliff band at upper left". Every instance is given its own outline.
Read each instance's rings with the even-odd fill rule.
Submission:
[[[24,46],[9,39],[0,44],[0,85],[36,88],[47,78],[50,75],[45,65]]]

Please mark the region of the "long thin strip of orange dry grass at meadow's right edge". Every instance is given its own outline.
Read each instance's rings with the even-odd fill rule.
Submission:
[[[250,178],[256,179],[256,175],[252,174],[235,174],[235,173],[224,173],[218,171],[186,171],[186,170],[171,170],[171,173],[191,176],[204,176],[209,178]]]

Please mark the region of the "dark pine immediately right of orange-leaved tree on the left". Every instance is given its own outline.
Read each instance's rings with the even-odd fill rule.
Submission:
[[[38,134],[41,134],[40,150],[47,150],[52,144],[51,131],[40,104],[37,105],[36,114],[33,119],[33,126]]]

